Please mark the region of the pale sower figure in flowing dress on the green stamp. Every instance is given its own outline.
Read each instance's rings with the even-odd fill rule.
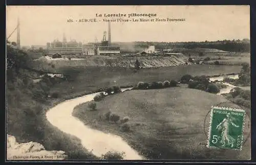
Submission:
[[[216,127],[221,131],[221,147],[225,147],[226,145],[231,145],[231,147],[233,147],[234,142],[236,142],[236,140],[229,134],[229,128],[231,125],[234,127],[239,127],[233,123],[232,118],[230,117],[230,113],[228,113],[226,118],[224,118],[222,122]]]

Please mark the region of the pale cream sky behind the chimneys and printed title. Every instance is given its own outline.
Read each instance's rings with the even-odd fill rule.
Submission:
[[[46,45],[63,34],[67,40],[84,43],[101,41],[108,32],[103,19],[128,19],[111,22],[112,42],[156,41],[217,41],[250,39],[249,6],[7,6],[6,35],[9,36],[20,21],[20,44]],[[126,17],[104,17],[104,14],[126,14]],[[130,17],[128,14],[157,14],[157,16]],[[96,17],[102,14],[102,17]],[[79,22],[96,18],[97,22]],[[149,19],[134,22],[134,19]],[[185,19],[161,21],[155,19]],[[73,19],[74,22],[67,22]],[[152,22],[151,19],[154,19]],[[76,20],[78,22],[76,22]],[[131,20],[131,21],[130,21]],[[16,32],[9,38],[16,42]],[[108,35],[107,35],[108,40]]]

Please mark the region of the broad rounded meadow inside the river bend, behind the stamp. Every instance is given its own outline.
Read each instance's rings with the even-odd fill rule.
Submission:
[[[73,115],[92,128],[121,136],[149,159],[249,159],[250,139],[242,151],[205,147],[211,105],[239,107],[222,96],[174,87],[106,96],[97,102],[97,111],[84,103],[75,107]],[[122,132],[119,124],[103,120],[109,111],[128,116],[132,131]],[[248,122],[247,118],[245,136],[250,131]]]

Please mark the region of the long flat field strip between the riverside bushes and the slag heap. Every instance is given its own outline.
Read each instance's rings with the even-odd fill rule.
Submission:
[[[180,80],[185,74],[196,76],[238,73],[240,72],[241,66],[182,65],[177,67],[141,69],[138,72],[134,72],[133,69],[113,67],[66,69],[70,70],[75,80],[71,82],[61,82],[51,89],[52,92],[57,92],[60,95],[72,95],[109,86],[134,86],[137,85],[139,81]],[[59,70],[58,72],[61,73],[63,70]]]

